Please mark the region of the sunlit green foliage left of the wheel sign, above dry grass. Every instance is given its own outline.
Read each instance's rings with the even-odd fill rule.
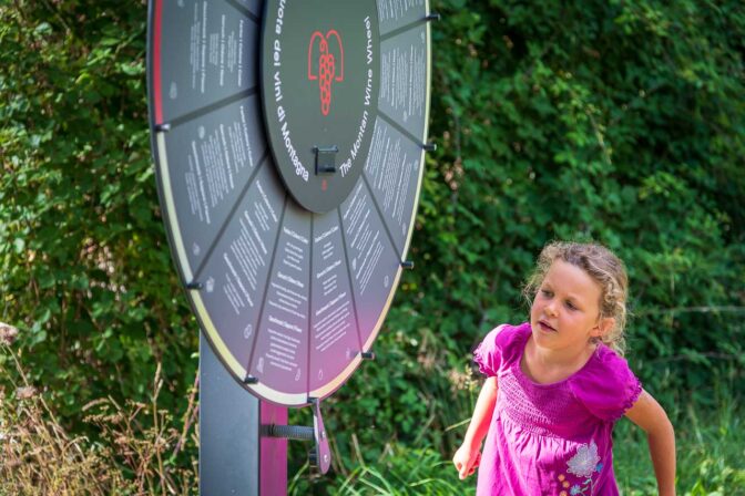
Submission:
[[[144,399],[159,361],[181,409],[196,365],[155,199],[145,29],[144,2],[0,7],[0,316],[75,423],[90,400]]]

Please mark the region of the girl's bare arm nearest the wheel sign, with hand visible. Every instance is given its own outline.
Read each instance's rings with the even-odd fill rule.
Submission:
[[[452,463],[456,465],[461,479],[471,475],[478,466],[481,442],[489,431],[491,416],[494,413],[497,391],[497,378],[487,379],[476,402],[463,444],[452,457]]]

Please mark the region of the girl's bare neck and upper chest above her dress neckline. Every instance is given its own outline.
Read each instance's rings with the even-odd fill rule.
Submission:
[[[539,384],[561,382],[580,371],[596,348],[596,344],[588,343],[579,349],[551,350],[538,347],[531,335],[525,343],[520,368]]]

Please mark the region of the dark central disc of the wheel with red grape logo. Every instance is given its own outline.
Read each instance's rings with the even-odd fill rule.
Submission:
[[[378,106],[377,27],[375,0],[266,2],[268,140],[283,180],[308,210],[336,208],[365,165]]]

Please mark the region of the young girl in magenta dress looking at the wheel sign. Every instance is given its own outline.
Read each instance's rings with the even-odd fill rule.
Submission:
[[[626,286],[602,246],[543,248],[530,322],[498,327],[473,353],[488,379],[452,462],[461,479],[479,467],[479,496],[618,495],[622,415],[646,432],[660,495],[675,494],[673,426],[622,358]]]

